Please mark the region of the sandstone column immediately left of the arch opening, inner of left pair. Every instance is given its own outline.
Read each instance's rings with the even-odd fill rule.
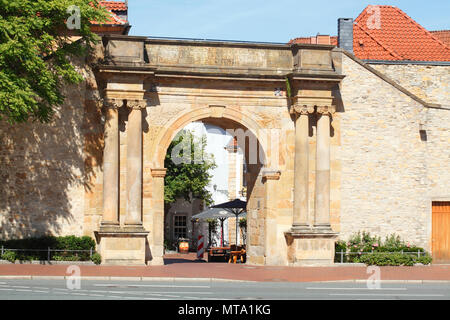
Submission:
[[[127,215],[125,225],[142,227],[142,109],[146,100],[128,100]]]

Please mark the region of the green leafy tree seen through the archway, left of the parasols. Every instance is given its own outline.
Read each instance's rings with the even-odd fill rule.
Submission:
[[[182,131],[170,144],[164,165],[164,202],[169,205],[178,198],[191,202],[193,198],[212,203],[206,189],[211,181],[209,171],[216,168],[212,154],[205,152],[206,136],[195,137],[190,131]],[[175,162],[174,162],[175,161]]]

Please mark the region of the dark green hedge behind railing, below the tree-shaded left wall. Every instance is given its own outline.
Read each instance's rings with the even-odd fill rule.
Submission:
[[[95,241],[91,237],[54,237],[0,240],[0,247],[5,249],[21,249],[14,251],[17,260],[47,260],[48,248],[57,250],[95,250]],[[44,251],[33,251],[44,250]],[[52,251],[50,260],[57,261],[89,261],[90,252]],[[10,260],[10,259],[5,259]]]

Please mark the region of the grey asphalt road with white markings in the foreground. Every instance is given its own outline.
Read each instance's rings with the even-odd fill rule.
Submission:
[[[450,283],[0,280],[0,300],[449,300]],[[75,289],[71,289],[75,286]]]

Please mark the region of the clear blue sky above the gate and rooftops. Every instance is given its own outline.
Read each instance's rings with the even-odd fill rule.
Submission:
[[[428,30],[450,29],[449,0],[129,0],[130,35],[287,42],[337,35],[367,5],[400,8]]]

